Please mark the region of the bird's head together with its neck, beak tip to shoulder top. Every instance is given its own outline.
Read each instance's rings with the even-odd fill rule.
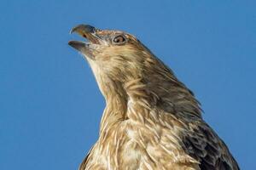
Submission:
[[[89,25],[75,26],[71,32],[88,40],[68,44],[88,60],[107,101],[112,100],[113,95],[125,100],[143,98],[169,108],[168,111],[175,105],[175,111],[200,115],[192,92],[136,37],[124,31],[100,30]]]

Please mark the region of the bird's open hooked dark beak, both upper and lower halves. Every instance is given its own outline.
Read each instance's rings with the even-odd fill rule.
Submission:
[[[96,31],[98,30],[95,27],[89,25],[75,26],[70,33],[76,32],[80,36],[86,38],[88,42],[70,41],[68,42],[68,45],[84,53],[90,44],[100,44],[101,39],[97,37]]]

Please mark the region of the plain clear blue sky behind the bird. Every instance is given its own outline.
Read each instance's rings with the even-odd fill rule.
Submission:
[[[201,101],[241,169],[255,169],[255,1],[1,1],[0,169],[77,169],[104,99],[67,42],[85,23],[136,35]]]

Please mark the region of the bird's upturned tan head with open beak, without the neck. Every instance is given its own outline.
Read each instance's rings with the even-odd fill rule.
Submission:
[[[106,91],[103,88],[113,83],[115,86],[124,86],[126,82],[150,74],[146,67],[156,62],[148,48],[124,31],[79,25],[71,30],[73,32],[88,40],[70,41],[68,44],[88,60],[103,94]]]

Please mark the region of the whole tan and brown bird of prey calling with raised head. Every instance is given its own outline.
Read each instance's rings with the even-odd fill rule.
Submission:
[[[237,170],[195,95],[137,37],[75,26],[70,41],[106,99],[99,138],[80,170]]]

